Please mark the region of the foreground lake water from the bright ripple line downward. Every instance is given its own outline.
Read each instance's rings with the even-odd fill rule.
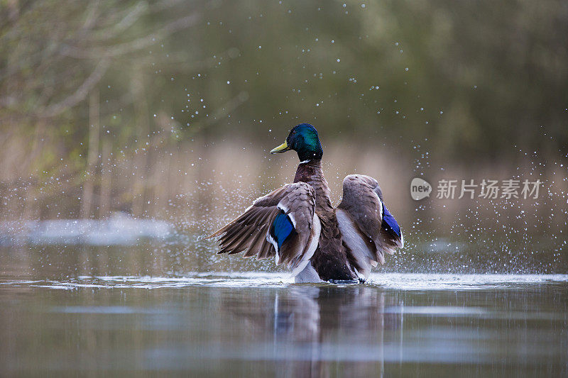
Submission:
[[[36,274],[37,276],[37,274]],[[0,277],[0,375],[566,376],[568,275]]]

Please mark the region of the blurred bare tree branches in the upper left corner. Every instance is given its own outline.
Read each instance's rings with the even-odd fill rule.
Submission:
[[[195,25],[200,13],[191,12],[161,24],[153,33],[127,42],[119,38],[142,17],[177,4],[178,1],[160,1],[148,6],[146,1],[136,1],[124,11],[114,11],[112,7],[102,9],[100,1],[93,1],[80,11],[79,17],[75,17],[82,19],[81,23],[60,22],[58,27],[46,30],[43,23],[38,23],[37,16],[45,11],[57,14],[55,3],[40,2],[24,10],[18,8],[17,1],[9,3],[12,23],[9,27],[0,27],[0,53],[3,56],[0,58],[0,106],[4,108],[0,112],[0,121],[9,113],[53,118],[77,106],[112,67],[112,58],[148,48],[179,30]],[[71,6],[62,9],[58,16],[65,19],[68,18],[67,13],[76,11],[78,9]],[[116,19],[116,22],[109,23],[109,18]],[[98,45],[101,41],[106,41],[107,45]],[[84,75],[87,64],[67,62],[65,57],[96,59],[98,62],[89,74]],[[30,75],[31,72],[35,74]],[[71,93],[58,99],[66,92]]]

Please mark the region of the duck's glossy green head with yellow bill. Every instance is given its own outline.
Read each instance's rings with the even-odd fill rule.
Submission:
[[[310,123],[300,123],[290,130],[285,142],[271,151],[271,154],[295,150],[300,162],[321,160],[324,155],[317,130]]]

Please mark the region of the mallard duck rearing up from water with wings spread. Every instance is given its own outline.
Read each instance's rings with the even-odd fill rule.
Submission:
[[[295,282],[363,282],[385,253],[403,248],[400,226],[386,209],[373,177],[349,174],[337,208],[322,171],[323,150],[317,130],[301,123],[271,154],[297,152],[293,184],[262,196],[241,216],[213,233],[219,253],[275,257],[292,269]]]

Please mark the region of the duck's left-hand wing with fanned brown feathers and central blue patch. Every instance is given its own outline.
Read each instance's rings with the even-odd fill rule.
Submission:
[[[285,184],[253,202],[252,206],[209,238],[221,235],[219,253],[245,252],[258,260],[275,256],[278,265],[301,272],[320,239],[315,192],[305,182]]]

